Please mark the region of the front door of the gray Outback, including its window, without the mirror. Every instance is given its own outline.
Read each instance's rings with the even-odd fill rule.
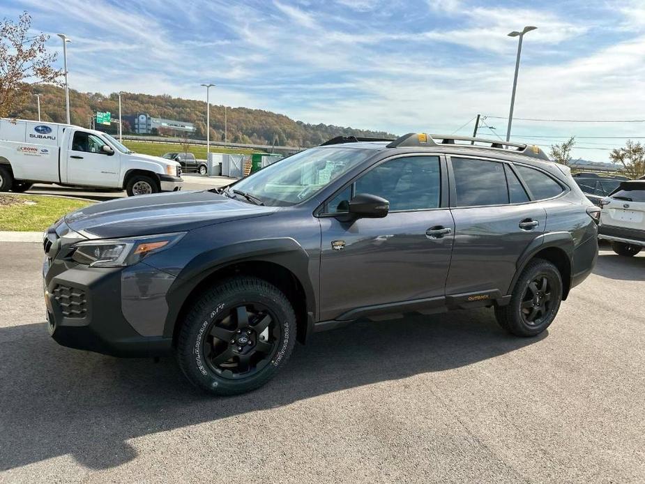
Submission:
[[[321,319],[353,319],[390,308],[396,312],[406,301],[442,300],[454,233],[442,203],[442,166],[438,156],[386,160],[328,201],[320,218]],[[353,222],[334,218],[347,212],[358,193],[387,199],[390,212]]]

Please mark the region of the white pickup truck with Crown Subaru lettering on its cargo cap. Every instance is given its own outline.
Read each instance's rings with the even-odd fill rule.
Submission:
[[[139,155],[100,131],[59,123],[0,119],[0,192],[33,183],[126,190],[181,190],[178,162]]]

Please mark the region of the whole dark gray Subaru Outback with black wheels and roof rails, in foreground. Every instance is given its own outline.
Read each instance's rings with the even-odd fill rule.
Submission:
[[[534,336],[593,269],[598,218],[536,146],[339,137],[226,188],[66,215],[44,239],[48,327],[68,347],[174,353],[220,395],[361,318],[486,306]]]

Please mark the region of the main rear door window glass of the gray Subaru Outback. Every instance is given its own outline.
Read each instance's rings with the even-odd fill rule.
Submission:
[[[457,206],[508,204],[503,163],[452,158]]]

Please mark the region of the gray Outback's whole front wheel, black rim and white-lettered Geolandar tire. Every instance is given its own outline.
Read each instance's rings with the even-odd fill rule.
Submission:
[[[181,325],[179,367],[192,384],[215,395],[264,385],[296,344],[289,300],[258,278],[233,278],[207,289]]]

